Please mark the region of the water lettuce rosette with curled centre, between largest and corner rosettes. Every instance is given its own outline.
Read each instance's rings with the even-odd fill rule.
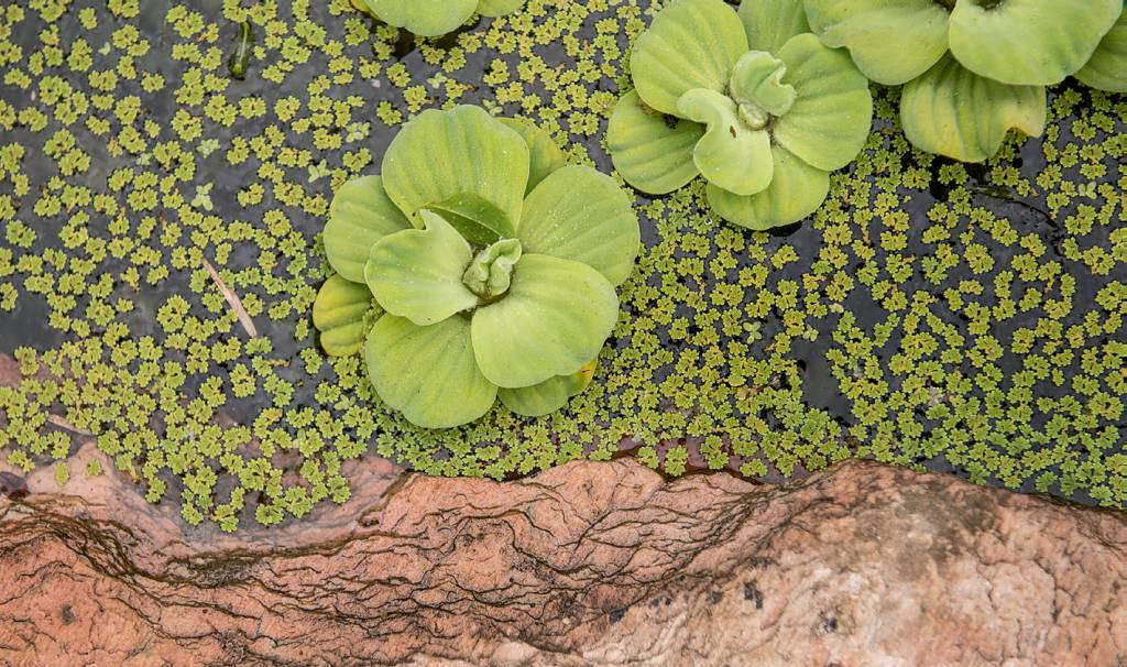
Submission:
[[[829,172],[861,151],[869,82],[809,33],[799,0],[676,0],[633,45],[635,90],[606,143],[633,187],[666,194],[698,176],[725,220],[767,230],[814,213]]]

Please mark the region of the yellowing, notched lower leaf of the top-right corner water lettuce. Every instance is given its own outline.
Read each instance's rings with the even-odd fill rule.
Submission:
[[[946,56],[904,87],[900,124],[912,145],[964,162],[982,162],[1012,130],[1045,130],[1045,88],[985,79]]]

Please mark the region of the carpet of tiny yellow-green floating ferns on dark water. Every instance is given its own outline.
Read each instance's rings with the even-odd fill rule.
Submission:
[[[558,413],[419,429],[320,352],[332,193],[458,104],[610,171],[655,9],[530,0],[409,46],[348,0],[6,3],[0,352],[25,380],[0,389],[0,456],[65,480],[92,433],[150,500],[223,530],[346,500],[362,455],[492,478],[623,451],[749,477],[871,456],[1127,505],[1127,99],[1075,83],[1042,139],[978,166],[913,151],[875,86],[861,154],[780,233],[724,224],[701,183],[636,195],[618,327]]]

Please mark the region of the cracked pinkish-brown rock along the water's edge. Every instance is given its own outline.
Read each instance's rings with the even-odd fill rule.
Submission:
[[[109,475],[23,480],[0,664],[1127,665],[1115,513],[864,462],[789,487],[352,472],[345,507],[234,536]]]

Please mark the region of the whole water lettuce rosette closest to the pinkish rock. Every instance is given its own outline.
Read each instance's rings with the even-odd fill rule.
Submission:
[[[540,416],[587,386],[640,233],[611,177],[566,164],[531,124],[459,106],[419,114],[381,176],[345,184],[323,240],[337,275],[313,305],[321,346],[363,348],[388,406],[446,428],[498,395]]]

